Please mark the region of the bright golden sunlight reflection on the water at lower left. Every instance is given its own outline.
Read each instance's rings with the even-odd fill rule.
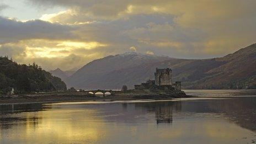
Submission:
[[[92,119],[86,115],[74,116],[74,114],[92,114],[94,110],[57,110],[57,111],[40,111],[36,115],[26,114],[26,132],[20,134],[19,138],[26,138],[28,141],[47,141],[53,138],[56,141],[76,140],[82,141],[85,138],[88,141],[97,141],[103,138],[104,125],[97,121],[100,119]],[[61,118],[72,118],[74,121],[59,121]],[[33,119],[38,118],[38,119]],[[88,125],[87,121],[90,122]],[[95,121],[95,122],[93,122]],[[36,134],[36,135],[35,135]]]

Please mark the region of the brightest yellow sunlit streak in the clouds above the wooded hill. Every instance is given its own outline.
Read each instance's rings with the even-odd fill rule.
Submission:
[[[80,55],[81,51],[92,50],[97,47],[107,46],[99,42],[78,42],[78,41],[60,41],[60,40],[22,40],[17,43],[8,43],[7,46],[25,47],[25,56],[28,58],[54,58],[66,57],[71,54]],[[1,45],[0,45],[1,47]],[[91,54],[91,55],[94,55]],[[90,56],[88,54],[88,56]]]

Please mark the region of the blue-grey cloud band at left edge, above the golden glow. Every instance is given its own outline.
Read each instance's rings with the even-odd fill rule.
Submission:
[[[74,27],[42,20],[19,22],[0,17],[0,43],[25,39],[74,39]]]

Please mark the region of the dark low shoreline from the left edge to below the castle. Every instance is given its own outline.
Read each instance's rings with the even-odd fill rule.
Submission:
[[[88,95],[86,92],[65,92],[65,93],[39,93],[39,94],[20,94],[12,95],[12,97],[0,97],[0,105],[8,104],[31,104],[31,103],[64,103],[64,102],[97,102],[97,101],[116,101],[116,100],[169,100],[180,97],[194,97],[184,94],[153,94],[153,93],[116,93],[114,95]]]

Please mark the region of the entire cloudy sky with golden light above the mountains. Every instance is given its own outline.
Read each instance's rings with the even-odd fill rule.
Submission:
[[[0,55],[72,70],[134,51],[212,58],[256,42],[254,0],[1,0]]]

